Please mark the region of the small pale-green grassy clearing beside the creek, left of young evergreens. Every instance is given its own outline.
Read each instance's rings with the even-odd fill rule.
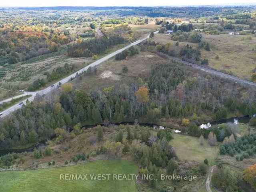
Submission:
[[[203,162],[206,158],[210,164],[214,164],[218,155],[218,146],[210,146],[207,140],[200,145],[199,138],[174,134],[174,139],[170,144],[175,148],[175,152],[181,160]]]

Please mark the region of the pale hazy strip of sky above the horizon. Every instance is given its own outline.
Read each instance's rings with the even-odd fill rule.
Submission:
[[[0,0],[0,7],[16,6],[188,6],[255,3],[256,0]]]

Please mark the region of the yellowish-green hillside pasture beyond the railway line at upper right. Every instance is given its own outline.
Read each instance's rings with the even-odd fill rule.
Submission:
[[[203,48],[201,58],[209,60],[209,66],[235,76],[251,80],[253,70],[256,68],[256,36],[255,35],[206,35],[203,34],[203,40],[210,43],[211,51]],[[176,41],[172,41],[170,36],[157,34],[154,37],[155,42],[166,44],[171,42],[172,47]],[[196,43],[179,42],[179,47],[186,44],[198,47]],[[254,48],[254,50],[253,50]]]

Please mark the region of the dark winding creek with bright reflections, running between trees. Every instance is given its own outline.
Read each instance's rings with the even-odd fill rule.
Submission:
[[[248,124],[250,121],[250,117],[249,116],[244,116],[244,117],[233,117],[233,118],[229,118],[229,119],[222,119],[222,120],[218,120],[218,121],[213,121],[213,122],[208,122],[208,123],[204,123],[202,125],[200,125],[201,128],[209,128],[213,125],[217,125],[217,124],[222,124],[222,123],[231,123],[231,124],[239,124],[239,123],[244,123],[244,124]],[[115,124],[101,124],[102,126],[113,126],[113,125],[120,125],[120,124],[129,124],[129,125],[134,125],[134,122],[122,122],[122,123],[115,123]],[[152,123],[138,123],[138,125],[140,126],[148,126],[148,127],[152,127],[152,128],[158,128],[158,129],[163,129],[163,126],[157,125],[157,124],[152,124]],[[88,129],[88,128],[92,128],[95,127],[97,125],[84,125],[82,126],[82,128],[84,129]],[[43,140],[40,143],[31,146],[29,148],[24,148],[24,149],[10,149],[10,150],[0,150],[0,156],[6,155],[8,153],[22,153],[22,152],[33,152],[34,148],[44,148],[46,146],[46,141],[47,140]]]

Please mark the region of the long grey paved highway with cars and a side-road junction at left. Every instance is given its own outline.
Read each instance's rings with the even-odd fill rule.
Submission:
[[[156,33],[158,33],[158,31],[154,32],[154,34],[156,34]],[[135,42],[132,42],[130,45],[125,46],[124,48],[121,48],[121,49],[119,49],[119,50],[117,50],[117,51],[115,51],[115,52],[113,52],[113,53],[111,53],[111,54],[109,54],[109,55],[107,55],[107,56],[105,56],[105,57],[103,57],[103,58],[101,58],[101,59],[99,59],[99,60],[93,62],[92,64],[90,64],[90,65],[88,65],[88,66],[86,66],[86,67],[80,69],[79,71],[77,71],[77,72],[71,74],[70,76],[68,76],[68,77],[66,77],[66,78],[64,78],[64,79],[62,79],[62,80],[56,82],[55,84],[53,84],[54,86],[49,86],[49,87],[47,87],[47,88],[45,88],[45,89],[43,89],[43,90],[40,90],[40,91],[25,92],[24,94],[21,94],[21,95],[12,97],[12,98],[8,98],[8,99],[6,99],[6,100],[2,100],[2,101],[0,101],[0,104],[2,104],[3,102],[9,102],[9,101],[11,101],[11,100],[14,99],[14,98],[19,98],[19,97],[21,97],[21,96],[27,96],[27,95],[31,95],[31,97],[28,98],[28,100],[29,100],[29,101],[33,101],[34,98],[35,98],[35,96],[36,96],[36,94],[39,94],[39,95],[42,96],[42,95],[44,95],[44,94],[47,94],[47,93],[51,92],[52,90],[58,88],[59,83],[60,83],[60,84],[64,84],[64,83],[69,82],[71,78],[76,78],[76,74],[77,74],[77,73],[78,73],[78,74],[81,74],[82,72],[85,72],[86,70],[88,70],[89,67],[98,66],[98,65],[101,64],[102,62],[104,62],[104,61],[108,60],[109,58],[115,56],[116,54],[118,54],[118,53],[120,53],[120,52],[122,52],[122,51],[124,51],[124,50],[126,50],[126,49],[128,49],[128,48],[130,48],[131,46],[140,44],[142,41],[148,39],[149,36],[150,36],[150,35],[146,36],[145,38],[139,39],[139,40],[137,40],[137,41],[135,41]],[[26,100],[27,100],[27,99],[25,99],[25,100],[23,100],[23,101],[20,101],[20,102],[23,102],[23,104],[26,104]],[[7,116],[8,114],[10,114],[11,112],[14,112],[14,111],[15,111],[16,109],[18,109],[18,108],[21,108],[23,104],[15,104],[15,105],[11,106],[10,108],[8,108],[8,109],[6,109],[6,110],[0,112],[0,114],[1,114],[0,118],[3,118],[3,117],[5,117],[5,116]]]

